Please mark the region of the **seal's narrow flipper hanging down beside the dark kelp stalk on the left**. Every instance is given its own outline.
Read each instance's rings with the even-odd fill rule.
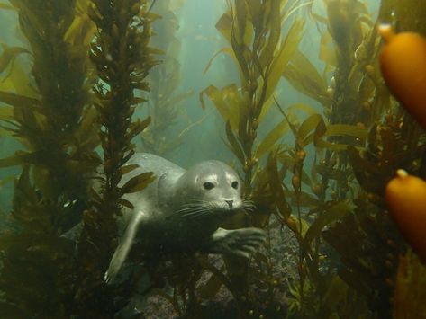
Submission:
[[[134,213],[133,217],[131,217],[131,221],[122,236],[122,241],[115,249],[108,270],[105,272],[104,280],[106,283],[110,283],[122,268],[122,263],[125,261],[127,254],[131,249],[131,244],[133,244],[133,239],[137,233],[138,226],[144,216],[144,213],[138,211]]]

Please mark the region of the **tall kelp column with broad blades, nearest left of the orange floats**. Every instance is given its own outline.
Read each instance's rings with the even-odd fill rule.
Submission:
[[[363,268],[360,265],[380,264],[386,259],[385,255],[372,256],[369,250],[362,247],[366,245],[382,247],[387,238],[384,234],[395,232],[386,217],[387,223],[384,221],[381,227],[377,227],[381,236],[374,235],[372,233],[374,230],[366,224],[371,222],[373,217],[369,215],[375,211],[375,207],[366,203],[367,194],[358,193],[359,186],[355,178],[363,166],[359,159],[352,160],[353,157],[350,157],[365,147],[367,126],[371,125],[389,104],[389,95],[373,72],[378,48],[376,28],[375,23],[368,17],[366,7],[358,1],[324,1],[324,4],[328,19],[312,13],[318,23],[327,27],[327,31],[322,34],[320,49],[320,58],[328,65],[324,75],[319,75],[301,54],[295,56],[285,72],[286,79],[297,90],[322,103],[326,117],[318,119],[317,115],[311,137],[313,145],[318,150],[315,162],[320,162],[313,164],[311,189],[318,199],[324,202],[322,204],[324,206],[316,207],[310,212],[309,215],[312,213],[315,215],[311,217],[313,220],[308,223],[305,233],[302,231],[296,233],[296,238],[301,238],[299,242],[302,244],[299,245],[302,249],[299,252],[303,256],[299,261],[299,267],[302,267],[302,270],[299,270],[299,277],[308,280],[308,287],[313,288],[313,293],[304,296],[304,285],[301,282],[295,297],[302,302],[305,299],[305,303],[311,308],[302,306],[293,313],[293,316],[304,317],[315,314],[328,316],[333,313],[343,315],[342,311],[350,308],[349,299],[342,295],[341,298],[331,302],[326,297],[331,296],[331,291],[338,287],[342,289],[347,284],[349,284],[349,287],[345,288],[347,294],[356,296],[360,293],[357,297],[357,311],[349,312],[347,315],[369,316],[365,301],[362,299],[363,294],[369,297],[378,295],[376,301],[372,301],[371,298],[368,300],[369,306],[373,311],[385,315],[387,311],[385,304],[391,291],[386,286],[385,280],[392,277],[390,274],[392,270],[381,272],[380,279],[376,281],[371,278],[377,277],[377,274],[367,277],[368,273],[371,274],[368,266]],[[329,47],[331,43],[333,50]],[[326,81],[330,76],[326,72],[333,75],[327,89],[325,89],[328,86]],[[322,155],[325,155],[323,159]],[[316,182],[317,174],[321,175],[321,182]],[[371,180],[369,183],[371,185]],[[322,210],[324,208],[326,209]],[[370,220],[365,215],[368,215]],[[296,228],[292,224],[287,225],[293,231]],[[328,227],[326,231],[322,231],[324,226]],[[338,250],[343,263],[342,266],[331,263],[326,273],[320,271],[318,263],[319,253],[326,248],[321,235],[327,243]],[[313,243],[311,247],[309,239]],[[370,241],[373,243],[369,244]],[[313,251],[310,252],[310,249]],[[394,250],[392,253],[395,253]],[[351,272],[354,270],[355,274]],[[337,274],[340,279],[337,279]],[[370,287],[364,289],[360,287],[359,280],[363,277],[366,278],[366,285]]]

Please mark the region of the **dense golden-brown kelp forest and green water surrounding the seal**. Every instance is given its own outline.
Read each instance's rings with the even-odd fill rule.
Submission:
[[[0,1],[15,20],[0,33],[0,317],[426,318],[426,268],[385,201],[398,169],[426,179],[426,134],[385,84],[377,31],[426,36],[426,3],[223,0],[199,74],[221,81],[200,90],[182,85],[185,3]],[[249,259],[135,245],[107,284],[122,196],[156,179],[122,183],[131,156],[185,156],[212,123],[204,144],[253,203],[222,227],[266,243]]]

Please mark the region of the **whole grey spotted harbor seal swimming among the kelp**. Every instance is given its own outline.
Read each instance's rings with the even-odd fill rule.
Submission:
[[[220,161],[204,161],[187,171],[151,154],[136,154],[128,164],[138,168],[123,176],[125,183],[143,172],[153,172],[156,180],[142,191],[126,194],[133,209],[125,211],[127,225],[120,244],[105,272],[111,282],[138,237],[157,253],[220,253],[249,257],[265,241],[265,233],[249,227],[221,228],[226,217],[250,210],[249,199],[241,199],[238,174]]]

